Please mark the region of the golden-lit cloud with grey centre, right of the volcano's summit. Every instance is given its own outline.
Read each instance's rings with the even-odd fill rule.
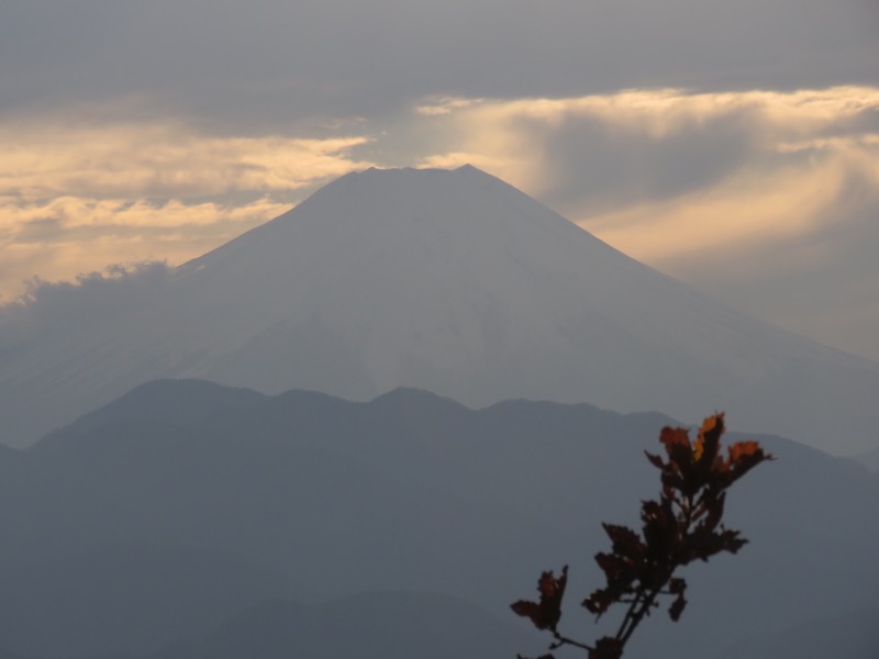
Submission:
[[[879,178],[874,88],[624,90],[570,99],[456,100],[445,108],[433,121],[442,122],[453,150],[425,157],[423,165],[469,160],[550,204],[559,178],[576,180],[578,167],[619,170],[628,179],[609,180],[591,198],[563,190],[558,197],[574,201],[563,201],[559,210],[655,264],[717,245],[816,231],[831,221],[827,210],[841,202],[852,177]],[[688,161],[688,149],[722,161],[727,154],[721,148],[705,156],[703,144],[715,135],[725,136],[721,146],[735,145],[742,154],[705,178],[702,161]],[[641,161],[649,164],[646,171],[639,171]],[[677,187],[656,183],[664,165],[677,169]],[[650,180],[638,185],[637,177]]]

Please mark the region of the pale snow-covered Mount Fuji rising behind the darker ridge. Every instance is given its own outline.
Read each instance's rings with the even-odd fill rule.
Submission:
[[[879,364],[731,311],[470,166],[349,174],[148,275],[113,304],[67,291],[58,304],[76,322],[41,313],[38,297],[0,311],[4,442],[147,380],[202,378],[689,422],[724,410],[738,429],[836,455],[879,444]]]

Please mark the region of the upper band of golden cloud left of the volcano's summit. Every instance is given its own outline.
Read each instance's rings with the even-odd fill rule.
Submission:
[[[218,137],[176,121],[66,125],[57,118],[0,124],[0,196],[198,198],[298,190],[369,166],[349,157],[363,135],[303,139]]]

